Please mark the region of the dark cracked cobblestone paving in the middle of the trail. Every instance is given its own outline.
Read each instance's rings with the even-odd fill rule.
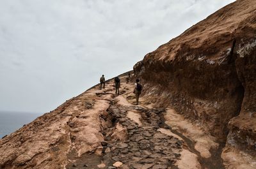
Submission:
[[[127,117],[129,110],[143,115],[142,126]],[[127,128],[128,136],[124,142],[108,142],[107,147],[111,152],[104,154],[104,163],[111,165],[111,158],[111,161],[121,161],[123,168],[171,168],[180,156],[182,142],[157,131],[162,124],[160,114],[163,112],[141,107],[111,106],[109,115],[115,119],[115,123]]]

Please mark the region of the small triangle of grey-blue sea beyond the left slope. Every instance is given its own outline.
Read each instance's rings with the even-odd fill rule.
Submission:
[[[0,112],[0,139],[13,133],[24,124],[28,124],[39,117],[40,113],[24,113],[24,112]]]

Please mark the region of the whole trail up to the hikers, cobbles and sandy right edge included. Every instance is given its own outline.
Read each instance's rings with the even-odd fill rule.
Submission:
[[[111,95],[107,114],[100,116],[104,119],[102,149],[97,150],[98,155],[92,151],[79,158],[70,153],[66,168],[115,168],[117,161],[122,162],[121,168],[224,168],[221,149],[209,149],[211,158],[202,157],[195,149],[196,140],[177,126],[173,129],[170,119],[166,124],[166,109],[152,108],[143,98],[135,106],[132,83],[122,84],[120,96],[112,89],[109,82],[106,89],[95,92],[97,98]]]

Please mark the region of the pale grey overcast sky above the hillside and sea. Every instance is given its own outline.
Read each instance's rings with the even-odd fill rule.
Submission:
[[[233,0],[0,0],[0,110],[49,112]]]

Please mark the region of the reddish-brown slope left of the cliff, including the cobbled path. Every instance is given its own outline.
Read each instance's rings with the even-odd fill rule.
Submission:
[[[134,105],[133,82],[121,82],[121,96],[97,85],[1,139],[0,168],[202,168],[166,110]]]

